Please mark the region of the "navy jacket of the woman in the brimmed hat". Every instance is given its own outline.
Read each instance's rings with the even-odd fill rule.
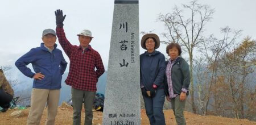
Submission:
[[[166,73],[165,58],[159,51],[144,52],[140,56],[141,61],[141,85],[146,90],[152,90],[156,84],[158,89],[163,89],[164,74]]]

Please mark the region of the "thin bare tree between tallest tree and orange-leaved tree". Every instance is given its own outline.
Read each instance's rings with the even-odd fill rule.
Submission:
[[[216,86],[216,82],[219,79],[217,74],[218,63],[221,57],[228,51],[230,44],[234,43],[238,36],[241,35],[241,30],[232,30],[232,28],[224,27],[221,28],[221,33],[223,34],[223,38],[217,39],[214,38],[213,35],[207,40],[208,42],[204,43],[203,53],[209,62],[210,69],[210,81],[209,81],[209,91],[207,94],[207,102],[205,104],[205,112],[207,114],[208,105],[210,101],[210,94],[212,93],[212,86]],[[220,80],[218,80],[220,81]],[[221,82],[221,81],[220,81]],[[214,93],[214,98],[217,98],[217,93]],[[217,103],[217,101],[215,101]],[[217,105],[217,104],[216,104]]]

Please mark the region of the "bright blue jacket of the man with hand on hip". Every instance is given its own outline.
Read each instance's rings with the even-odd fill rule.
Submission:
[[[42,80],[34,79],[33,88],[61,88],[61,75],[64,73],[68,63],[65,61],[60,49],[56,47],[57,44],[54,45],[51,53],[44,47],[44,43],[41,43],[41,47],[32,48],[15,62],[16,67],[27,77],[32,78],[35,73],[40,72],[45,76]],[[26,65],[30,63],[35,73],[31,72],[30,68],[27,68]]]

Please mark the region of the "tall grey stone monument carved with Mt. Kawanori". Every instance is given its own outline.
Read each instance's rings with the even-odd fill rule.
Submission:
[[[139,3],[115,0],[102,124],[141,124]]]

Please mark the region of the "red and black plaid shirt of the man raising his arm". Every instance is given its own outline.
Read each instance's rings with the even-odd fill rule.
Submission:
[[[90,45],[83,51],[81,46],[69,43],[63,27],[57,27],[56,34],[61,47],[70,60],[68,78],[65,80],[66,84],[75,89],[96,91],[98,78],[105,71],[100,54]]]

